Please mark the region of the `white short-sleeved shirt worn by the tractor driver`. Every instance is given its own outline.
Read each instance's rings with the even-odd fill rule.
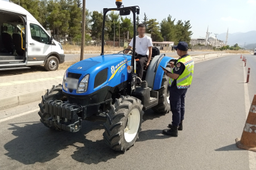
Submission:
[[[132,47],[133,38],[129,45]],[[143,38],[139,38],[139,36],[136,37],[135,51],[137,52],[137,54],[148,55],[149,54],[148,47],[152,47],[152,46],[153,46],[152,39],[150,37],[146,35]]]

